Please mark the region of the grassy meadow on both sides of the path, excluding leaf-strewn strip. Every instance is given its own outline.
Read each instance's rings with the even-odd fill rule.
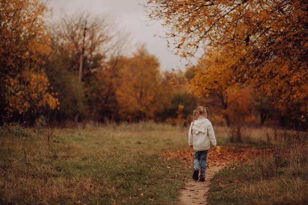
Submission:
[[[86,125],[56,128],[47,143],[48,129],[1,127],[0,204],[177,204],[191,170],[161,154],[187,148],[187,131],[152,122]],[[271,128],[244,128],[236,144],[229,143],[228,128],[215,132],[218,145],[280,151],[219,171],[210,185],[211,205],[307,202],[307,146],[283,146],[290,131],[278,130],[275,141]]]

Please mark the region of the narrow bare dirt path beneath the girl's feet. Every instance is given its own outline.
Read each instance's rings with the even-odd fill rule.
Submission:
[[[207,169],[204,182],[194,181],[191,177],[187,178],[185,187],[181,190],[179,205],[206,205],[210,179],[221,168],[215,166]]]

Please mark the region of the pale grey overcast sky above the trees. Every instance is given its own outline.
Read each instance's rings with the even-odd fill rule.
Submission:
[[[146,1],[146,0],[144,0]],[[95,15],[112,16],[119,22],[119,28],[130,33],[132,51],[138,43],[146,43],[149,53],[160,61],[162,70],[185,70],[187,61],[167,50],[166,39],[154,37],[154,34],[164,35],[164,28],[159,22],[149,22],[144,8],[136,0],[48,0],[53,8],[53,18],[57,20],[65,14],[89,10]]]

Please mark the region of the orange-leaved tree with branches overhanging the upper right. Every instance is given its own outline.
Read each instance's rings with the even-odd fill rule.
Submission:
[[[294,103],[308,111],[307,0],[149,0],[146,8],[179,55],[203,50],[191,91],[251,88],[280,112]]]

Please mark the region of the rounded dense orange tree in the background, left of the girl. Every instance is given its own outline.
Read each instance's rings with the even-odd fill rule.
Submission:
[[[116,90],[120,115],[123,119],[146,120],[168,103],[162,84],[159,62],[140,46],[132,58],[123,59],[121,85]]]

